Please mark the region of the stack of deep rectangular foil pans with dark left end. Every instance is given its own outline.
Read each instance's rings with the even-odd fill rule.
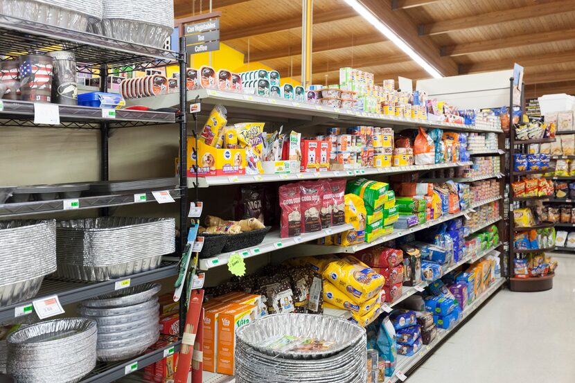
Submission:
[[[159,267],[175,251],[173,218],[100,217],[58,222],[56,275],[88,281]]]

